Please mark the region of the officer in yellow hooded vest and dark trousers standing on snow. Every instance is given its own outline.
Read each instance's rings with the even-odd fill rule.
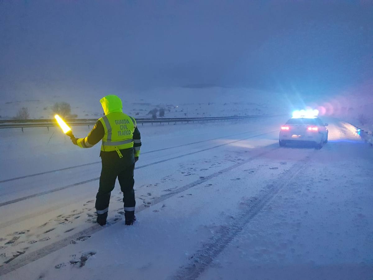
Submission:
[[[105,115],[98,119],[85,138],[72,139],[81,148],[90,148],[102,140],[101,176],[96,195],[97,223],[106,224],[110,193],[118,178],[123,192],[125,224],[132,225],[136,220],[134,168],[140,155],[141,137],[136,121],[122,112],[122,100],[116,95],[107,95],[100,100]]]

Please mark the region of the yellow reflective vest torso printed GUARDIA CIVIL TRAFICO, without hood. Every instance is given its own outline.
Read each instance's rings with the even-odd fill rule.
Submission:
[[[122,112],[112,112],[98,120],[102,123],[105,130],[101,151],[116,151],[119,157],[122,158],[119,150],[129,149],[134,146],[135,119]]]

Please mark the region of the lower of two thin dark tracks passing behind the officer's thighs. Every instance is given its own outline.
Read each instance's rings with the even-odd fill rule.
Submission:
[[[135,169],[140,169],[140,168],[148,167],[148,166],[151,166],[151,165],[160,164],[162,162],[171,161],[173,159],[182,158],[184,156],[193,155],[195,153],[201,153],[201,152],[204,152],[204,151],[207,151],[207,150],[211,150],[211,149],[215,149],[215,148],[218,148],[218,147],[226,146],[226,145],[229,145],[229,144],[232,144],[232,143],[236,143],[236,142],[239,142],[239,141],[247,140],[247,139],[250,139],[250,138],[255,138],[255,137],[258,137],[258,136],[263,136],[263,135],[266,135],[266,134],[269,134],[269,133],[274,133],[276,131],[277,130],[275,130],[275,131],[269,131],[269,132],[266,132],[266,133],[262,133],[262,134],[258,134],[258,135],[254,135],[254,136],[250,136],[250,137],[246,137],[244,139],[239,139],[239,140],[231,141],[231,142],[228,142],[228,143],[220,144],[220,145],[217,145],[217,146],[209,147],[209,148],[198,150],[198,151],[195,151],[195,152],[186,153],[186,154],[179,155],[179,156],[174,156],[172,158],[163,159],[162,161],[156,161],[156,162],[152,162],[150,164],[141,165],[139,167],[135,167]],[[170,149],[170,148],[167,148],[167,149]],[[8,200],[8,201],[0,203],[0,207],[5,206],[5,205],[9,205],[9,204],[13,204],[13,203],[16,203],[16,202],[20,202],[22,200],[30,199],[32,197],[47,195],[49,193],[54,193],[54,192],[58,192],[60,190],[69,189],[71,187],[75,187],[75,186],[79,186],[79,185],[82,185],[82,184],[90,183],[90,182],[93,182],[93,181],[97,181],[99,179],[100,179],[100,177],[97,177],[97,178],[93,178],[93,179],[81,181],[81,182],[78,182],[78,183],[70,184],[68,186],[59,187],[59,188],[56,188],[56,189],[53,189],[53,190],[47,190],[47,191],[44,191],[44,192],[35,193],[33,195],[28,195],[28,196],[19,197],[17,199]]]

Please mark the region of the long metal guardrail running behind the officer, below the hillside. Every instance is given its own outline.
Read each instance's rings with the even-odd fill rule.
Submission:
[[[235,119],[252,119],[252,118],[266,118],[272,116],[280,115],[253,115],[253,116],[228,116],[228,117],[205,117],[205,118],[159,118],[159,119],[136,119],[138,124],[162,124],[162,123],[175,123],[176,122],[203,122],[203,121],[226,121],[226,120],[235,120]],[[94,125],[97,122],[97,119],[66,119],[66,123],[69,126],[81,126],[88,125],[88,128],[91,125]],[[0,128],[23,128],[28,127],[56,127],[58,126],[57,122],[54,119],[48,119],[41,121],[40,119],[28,119],[28,120],[0,120]]]

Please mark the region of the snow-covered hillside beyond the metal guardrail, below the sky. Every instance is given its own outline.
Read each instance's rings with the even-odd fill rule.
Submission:
[[[0,100],[0,119],[13,118],[22,107],[28,108],[30,119],[52,119],[55,102],[70,103],[71,113],[78,118],[100,118],[102,108],[99,100],[107,94],[119,96],[123,100],[123,112],[135,118],[151,118],[149,111],[160,108],[164,109],[165,118],[273,115],[291,111],[289,108],[295,102],[281,94],[251,88],[167,87],[146,91],[93,91],[88,99],[84,98],[87,94],[76,90],[56,93],[56,90],[43,91],[39,88],[4,94]],[[303,103],[301,105],[303,108]]]

